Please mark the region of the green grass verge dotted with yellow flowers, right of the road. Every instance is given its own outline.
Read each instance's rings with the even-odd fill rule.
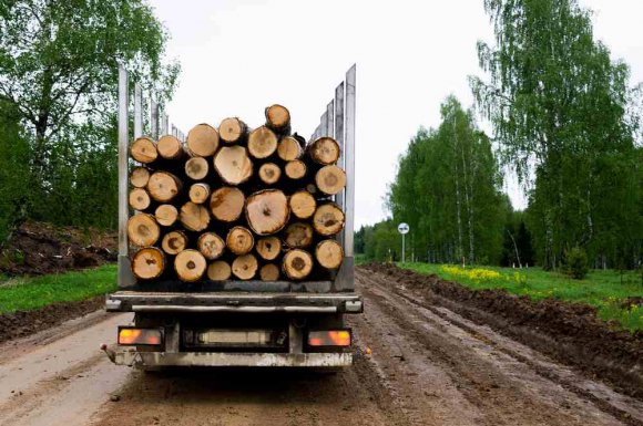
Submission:
[[[595,306],[599,316],[614,320],[631,332],[643,330],[643,306],[627,304],[629,298],[643,298],[641,272],[590,271],[582,280],[543,271],[540,268],[511,269],[497,267],[474,267],[465,271],[458,267],[399,263],[423,274],[435,273],[445,280],[459,282],[473,290],[506,289],[509,293],[527,295],[532,300],[552,298],[569,302],[586,303]],[[480,271],[482,270],[482,271]]]

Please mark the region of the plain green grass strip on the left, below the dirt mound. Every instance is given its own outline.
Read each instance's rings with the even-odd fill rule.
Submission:
[[[116,266],[0,281],[0,314],[54,302],[91,299],[116,290]]]

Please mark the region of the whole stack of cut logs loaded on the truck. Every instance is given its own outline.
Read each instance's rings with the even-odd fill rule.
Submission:
[[[306,145],[282,105],[265,115],[255,129],[231,117],[218,129],[195,126],[185,144],[171,135],[131,144],[139,165],[127,236],[137,279],[328,279],[340,267],[339,145],[330,137]]]

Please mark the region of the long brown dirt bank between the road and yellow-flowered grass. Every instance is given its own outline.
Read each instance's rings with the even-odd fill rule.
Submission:
[[[643,396],[643,333],[633,335],[615,330],[615,324],[596,316],[593,306],[552,299],[532,301],[504,290],[473,291],[437,276],[422,276],[392,264],[365,268],[388,276],[397,290],[417,292],[431,303],[488,323],[560,362],[599,375],[625,393]]]

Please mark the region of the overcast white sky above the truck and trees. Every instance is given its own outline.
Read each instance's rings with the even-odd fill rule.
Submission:
[[[643,81],[641,0],[580,0],[596,37]],[[286,105],[308,137],[345,72],[357,63],[356,227],[385,217],[382,197],[418,127],[439,124],[455,94],[469,106],[467,75],[481,74],[476,42],[492,40],[482,0],[150,0],[183,72],[170,120],[182,131],[239,116],[263,124]],[[524,198],[508,179],[513,205]]]

